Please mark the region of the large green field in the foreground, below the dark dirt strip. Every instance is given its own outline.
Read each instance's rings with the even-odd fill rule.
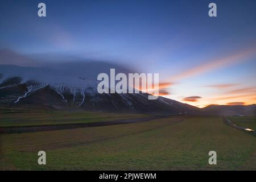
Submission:
[[[0,169],[256,170],[256,137],[217,117],[181,119],[0,135]],[[208,164],[212,150],[217,165]]]

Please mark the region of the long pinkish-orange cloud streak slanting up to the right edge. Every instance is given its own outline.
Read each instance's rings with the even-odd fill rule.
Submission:
[[[196,76],[201,73],[205,73],[207,71],[212,71],[213,69],[217,69],[220,67],[225,67],[230,64],[240,63],[245,60],[247,56],[256,52],[256,48],[250,48],[235,55],[231,55],[225,57],[223,59],[211,60],[208,63],[198,65],[197,67],[193,67],[188,69],[187,71],[181,72],[176,76],[170,77],[171,80],[181,80],[183,78]]]

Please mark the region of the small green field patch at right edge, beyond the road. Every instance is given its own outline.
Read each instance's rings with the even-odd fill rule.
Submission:
[[[256,131],[256,117],[229,117],[238,126],[247,127]]]

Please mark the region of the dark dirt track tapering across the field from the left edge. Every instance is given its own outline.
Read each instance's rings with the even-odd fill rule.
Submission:
[[[30,132],[38,132],[38,131],[77,129],[80,127],[121,125],[121,124],[127,124],[127,123],[145,122],[145,121],[150,121],[153,119],[160,119],[160,118],[164,118],[164,117],[118,119],[115,121],[92,122],[92,123],[70,123],[70,124],[59,124],[59,125],[8,126],[8,127],[0,127],[0,134],[30,133]]]

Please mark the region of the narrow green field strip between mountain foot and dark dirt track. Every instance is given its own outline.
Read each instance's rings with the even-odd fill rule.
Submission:
[[[89,123],[148,117],[145,114],[119,114],[89,111],[1,110],[0,127]]]

